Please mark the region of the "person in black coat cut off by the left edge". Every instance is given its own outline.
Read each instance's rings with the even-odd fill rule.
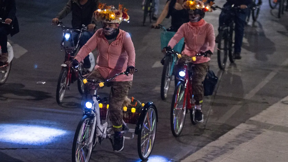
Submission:
[[[2,52],[0,54],[0,62],[8,61],[7,35],[13,36],[19,32],[18,20],[15,14],[15,0],[0,0],[0,46]]]

